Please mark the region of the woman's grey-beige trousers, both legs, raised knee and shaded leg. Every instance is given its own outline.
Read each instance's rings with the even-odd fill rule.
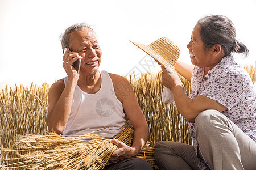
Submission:
[[[222,113],[201,112],[195,121],[200,150],[214,169],[256,169],[256,142]],[[155,145],[159,169],[198,169],[193,146],[162,141]]]

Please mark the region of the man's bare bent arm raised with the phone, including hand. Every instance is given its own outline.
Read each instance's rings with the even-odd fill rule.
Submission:
[[[66,86],[64,80],[58,80],[52,84],[48,94],[48,115],[46,123],[50,131],[55,131],[61,134],[67,124],[70,112],[73,94],[79,74],[73,67],[73,62],[77,59],[82,59],[76,52],[70,52],[69,49],[63,54],[63,68],[68,75]]]

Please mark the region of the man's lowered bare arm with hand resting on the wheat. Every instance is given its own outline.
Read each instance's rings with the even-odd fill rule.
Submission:
[[[118,75],[110,74],[110,77],[113,80],[114,88],[117,83],[121,83],[123,86],[121,91],[115,88],[115,95],[117,95],[118,100],[123,104],[123,109],[134,128],[134,138],[131,147],[122,145],[120,142],[115,140],[112,141],[116,145],[121,146],[121,149],[115,150],[110,160],[118,161],[137,155],[147,142],[149,130],[146,119],[139,107],[137,98],[130,83],[125,78]]]

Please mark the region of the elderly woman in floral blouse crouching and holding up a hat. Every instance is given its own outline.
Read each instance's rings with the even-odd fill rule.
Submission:
[[[162,82],[188,121],[193,146],[161,141],[155,145],[159,169],[256,169],[256,90],[234,53],[249,52],[236,40],[231,20],[201,18],[187,45],[193,66],[175,70],[191,81],[188,97],[176,73],[162,67]]]

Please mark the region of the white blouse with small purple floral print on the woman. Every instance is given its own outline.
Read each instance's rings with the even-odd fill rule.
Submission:
[[[256,88],[246,70],[230,54],[209,70],[202,81],[203,74],[204,67],[194,67],[191,78],[192,93],[189,97],[195,99],[203,95],[224,105],[228,109],[221,113],[256,141]],[[188,125],[197,154],[199,146],[195,124],[188,122]],[[205,160],[199,158],[200,169],[205,169],[206,164],[208,163]],[[208,166],[210,167],[209,164]]]

